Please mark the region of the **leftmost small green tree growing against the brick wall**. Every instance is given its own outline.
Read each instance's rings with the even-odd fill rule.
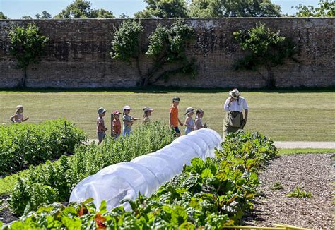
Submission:
[[[8,30],[8,35],[11,41],[9,51],[18,61],[18,68],[23,68],[24,71],[18,86],[25,87],[27,68],[30,63],[40,63],[40,57],[44,54],[49,37],[42,35],[34,23],[28,24],[26,28],[13,25]]]

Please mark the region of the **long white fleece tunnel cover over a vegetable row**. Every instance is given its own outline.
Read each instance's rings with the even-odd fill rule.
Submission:
[[[70,196],[70,202],[93,198],[96,207],[102,200],[107,210],[121,205],[124,199],[134,200],[141,193],[152,195],[165,182],[182,172],[184,164],[199,157],[215,157],[215,147],[221,149],[221,136],[209,128],[182,135],[157,152],[136,157],[131,162],[112,164],[93,176],[79,182]],[[124,208],[130,209],[125,202]]]

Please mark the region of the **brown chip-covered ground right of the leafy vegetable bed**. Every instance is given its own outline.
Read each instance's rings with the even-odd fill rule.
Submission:
[[[333,154],[283,155],[274,159],[259,175],[258,198],[244,225],[290,224],[312,229],[334,229],[331,191],[334,190]],[[272,190],[279,181],[283,190]],[[288,198],[286,193],[300,186],[312,198]]]

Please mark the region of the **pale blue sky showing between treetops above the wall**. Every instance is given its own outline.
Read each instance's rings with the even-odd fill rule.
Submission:
[[[37,13],[47,11],[55,16],[74,0],[0,0],[0,12],[11,19],[18,19],[22,16],[32,16]],[[112,11],[114,16],[118,17],[125,13],[127,16],[134,16],[134,13],[141,11],[146,7],[143,0],[88,0],[92,3],[92,8],[104,8]],[[317,6],[319,0],[272,0],[274,4],[281,6],[282,13],[295,13],[295,8],[291,6],[312,5]]]

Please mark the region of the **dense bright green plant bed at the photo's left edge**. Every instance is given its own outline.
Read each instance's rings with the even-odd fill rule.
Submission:
[[[0,126],[0,175],[71,154],[86,134],[64,119]]]

